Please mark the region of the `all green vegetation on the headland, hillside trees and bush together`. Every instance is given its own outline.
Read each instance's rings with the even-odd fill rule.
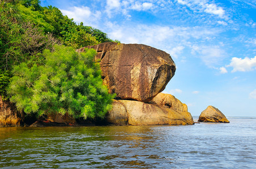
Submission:
[[[27,114],[67,111],[75,118],[103,117],[113,96],[92,61],[96,52],[77,54],[74,48],[110,41],[100,30],[76,25],[38,0],[2,0],[0,95],[11,97]]]

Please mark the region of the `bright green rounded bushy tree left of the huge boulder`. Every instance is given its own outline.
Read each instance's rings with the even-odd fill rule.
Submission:
[[[71,47],[45,50],[45,65],[27,63],[14,67],[8,94],[26,114],[66,113],[72,117],[105,117],[114,95],[103,86],[96,51],[78,54]]]

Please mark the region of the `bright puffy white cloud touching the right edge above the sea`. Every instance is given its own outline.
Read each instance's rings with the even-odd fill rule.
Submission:
[[[245,59],[233,57],[227,67],[233,67],[232,72],[249,72],[255,70],[256,56],[254,58],[245,57]]]

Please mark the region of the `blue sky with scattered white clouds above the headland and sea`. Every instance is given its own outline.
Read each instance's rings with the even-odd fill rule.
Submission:
[[[163,91],[192,115],[208,105],[226,117],[256,117],[256,0],[41,0],[121,43],[172,56],[176,73]]]

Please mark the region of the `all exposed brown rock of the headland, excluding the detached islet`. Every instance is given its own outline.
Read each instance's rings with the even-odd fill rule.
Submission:
[[[77,51],[83,52],[84,48]],[[113,109],[106,116],[107,123],[194,124],[191,114],[187,112],[186,104],[172,95],[160,93],[176,70],[169,54],[146,45],[113,42],[87,46],[87,48],[95,48],[97,51],[95,61],[100,63],[103,82],[110,93],[117,94],[117,100],[113,101]],[[8,104],[0,103],[0,126],[20,126],[24,117],[19,112],[13,112],[14,105]],[[80,126],[81,124],[93,125],[91,121],[80,122],[67,114],[56,114],[41,117],[32,126]]]

